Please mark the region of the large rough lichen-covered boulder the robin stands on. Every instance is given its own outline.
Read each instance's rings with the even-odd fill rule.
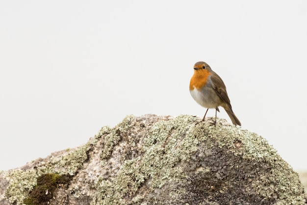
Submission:
[[[44,195],[50,205],[306,204],[298,174],[265,139],[225,120],[216,128],[199,120],[128,116],[83,146],[0,172],[0,204]],[[62,175],[70,181],[59,182]],[[38,184],[43,176],[53,192]]]

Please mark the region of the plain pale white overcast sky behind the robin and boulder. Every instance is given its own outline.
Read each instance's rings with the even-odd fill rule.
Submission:
[[[307,0],[0,1],[0,170],[126,115],[203,117],[197,61],[224,80],[242,129],[307,170],[306,59]]]

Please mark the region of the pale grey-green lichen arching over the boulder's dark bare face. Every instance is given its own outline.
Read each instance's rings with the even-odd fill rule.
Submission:
[[[107,151],[104,153],[107,154],[102,155],[102,159],[111,157],[112,149],[120,144],[119,135],[127,132],[131,124],[136,126],[136,120],[139,119],[131,116],[125,118],[105,136],[110,139],[106,139],[104,149]],[[272,167],[271,178],[264,177],[262,181],[252,182],[259,195],[270,197],[282,189],[284,196],[280,196],[280,203],[294,205],[305,201],[304,195],[298,194],[303,190],[299,181],[296,186],[293,186],[293,182],[289,180],[289,177],[297,177],[296,174],[264,138],[242,130],[240,127],[229,126],[223,121],[222,125],[214,127],[207,122],[195,125],[196,120],[198,118],[191,116],[170,117],[157,121],[144,131],[147,134],[143,138],[143,144],[141,147],[136,145],[140,147],[141,153],[135,158],[124,161],[112,180],[104,178],[98,180],[96,184],[98,192],[94,196],[92,205],[111,202],[126,204],[125,199],[135,196],[141,185],[148,179],[150,180],[146,183],[147,187],[155,189],[163,187],[166,181],[180,181],[186,178],[184,170],[178,165],[181,161],[188,162],[201,142],[208,147],[217,143],[219,147],[229,149],[234,156],[240,155],[251,161],[269,164]],[[282,165],[275,166],[276,163]],[[199,172],[209,171],[209,167],[199,169]],[[272,186],[261,184],[262,182],[271,183],[274,180],[278,181]],[[220,192],[222,193],[223,190]],[[176,195],[176,193],[173,194]],[[140,197],[140,195],[137,196]]]

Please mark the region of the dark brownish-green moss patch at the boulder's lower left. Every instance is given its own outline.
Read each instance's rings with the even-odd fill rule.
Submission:
[[[37,185],[25,199],[25,205],[46,205],[53,198],[55,189],[61,185],[67,186],[71,176],[58,174],[44,174],[37,178]]]

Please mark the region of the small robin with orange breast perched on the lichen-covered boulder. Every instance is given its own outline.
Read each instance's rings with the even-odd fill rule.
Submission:
[[[207,63],[202,61],[195,63],[194,75],[190,81],[190,93],[198,104],[207,108],[205,116],[209,108],[215,108],[215,121],[212,125],[216,125],[216,114],[217,111],[220,112],[218,107],[222,106],[232,123],[241,126],[241,122],[231,109],[230,99],[224,82],[218,74],[211,70]],[[205,116],[202,121],[205,120]]]

